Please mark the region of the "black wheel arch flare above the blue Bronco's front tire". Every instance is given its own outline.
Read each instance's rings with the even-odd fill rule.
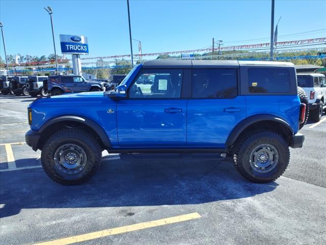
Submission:
[[[42,150],[46,139],[53,133],[64,128],[79,127],[90,131],[98,140],[102,149],[108,149],[111,146],[110,139],[104,129],[92,119],[75,115],[64,115],[52,118],[45,122],[39,129],[40,138],[37,143],[37,148]]]

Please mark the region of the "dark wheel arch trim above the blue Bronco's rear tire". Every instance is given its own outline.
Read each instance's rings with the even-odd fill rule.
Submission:
[[[293,130],[285,120],[274,115],[254,115],[242,120],[233,128],[226,141],[226,145],[232,146],[242,134],[254,129],[277,131],[289,145],[293,143]]]

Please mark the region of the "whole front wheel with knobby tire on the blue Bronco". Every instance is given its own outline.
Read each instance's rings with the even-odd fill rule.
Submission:
[[[101,146],[92,134],[77,128],[63,129],[44,143],[41,163],[53,181],[78,185],[95,175],[101,153]]]

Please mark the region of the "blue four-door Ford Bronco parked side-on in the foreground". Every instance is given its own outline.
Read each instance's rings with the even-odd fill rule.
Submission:
[[[231,156],[244,178],[267,183],[285,171],[289,147],[302,147],[305,110],[292,63],[156,60],[111,91],[40,97],[25,138],[64,185],[89,180],[103,150],[121,159]]]

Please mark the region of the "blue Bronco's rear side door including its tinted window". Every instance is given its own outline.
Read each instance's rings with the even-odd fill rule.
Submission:
[[[232,129],[246,118],[238,95],[238,69],[194,68],[192,99],[187,105],[187,145],[224,147]]]

